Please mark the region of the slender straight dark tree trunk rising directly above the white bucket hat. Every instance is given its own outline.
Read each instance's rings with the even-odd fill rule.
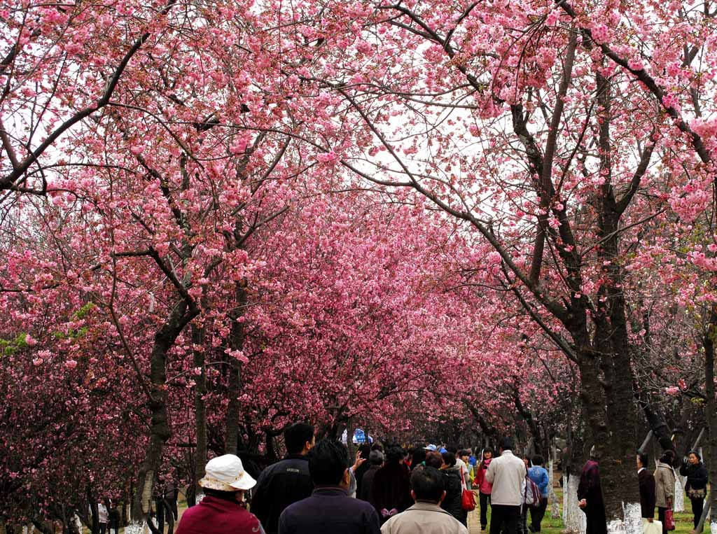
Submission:
[[[244,323],[240,318],[244,317],[244,310],[247,307],[247,285],[245,281],[235,283],[236,302],[234,309],[229,313],[232,320],[232,330],[229,334],[229,348],[232,351],[244,349]],[[239,441],[239,394],[242,390],[242,362],[237,358],[229,358],[229,405],[227,406],[227,434],[224,442],[224,452],[237,454]]]

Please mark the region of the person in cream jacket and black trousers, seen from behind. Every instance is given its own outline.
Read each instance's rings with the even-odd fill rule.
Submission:
[[[513,455],[513,439],[500,440],[500,456],[493,459],[485,472],[485,480],[493,485],[490,492],[490,534],[518,534],[518,521],[523,504],[522,486],[526,465]]]

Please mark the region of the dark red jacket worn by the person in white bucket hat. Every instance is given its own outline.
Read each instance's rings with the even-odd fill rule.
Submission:
[[[256,516],[238,502],[207,495],[181,516],[176,534],[257,534]]]

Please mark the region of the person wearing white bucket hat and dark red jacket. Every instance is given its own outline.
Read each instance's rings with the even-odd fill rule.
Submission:
[[[234,454],[209,460],[199,480],[204,499],[184,512],[176,534],[263,533],[259,520],[244,507],[244,492],[256,483]]]

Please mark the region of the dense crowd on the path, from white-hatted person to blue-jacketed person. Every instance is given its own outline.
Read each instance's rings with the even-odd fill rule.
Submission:
[[[199,482],[205,496],[184,512],[176,534],[467,534],[474,490],[482,530],[488,506],[490,534],[541,530],[548,473],[541,457],[515,454],[511,439],[500,442],[499,456],[485,450],[480,461],[450,445],[365,444],[351,463],[344,444],[316,442],[309,424],[289,426],[284,437],[287,456],[257,480],[232,454],[209,461]]]

